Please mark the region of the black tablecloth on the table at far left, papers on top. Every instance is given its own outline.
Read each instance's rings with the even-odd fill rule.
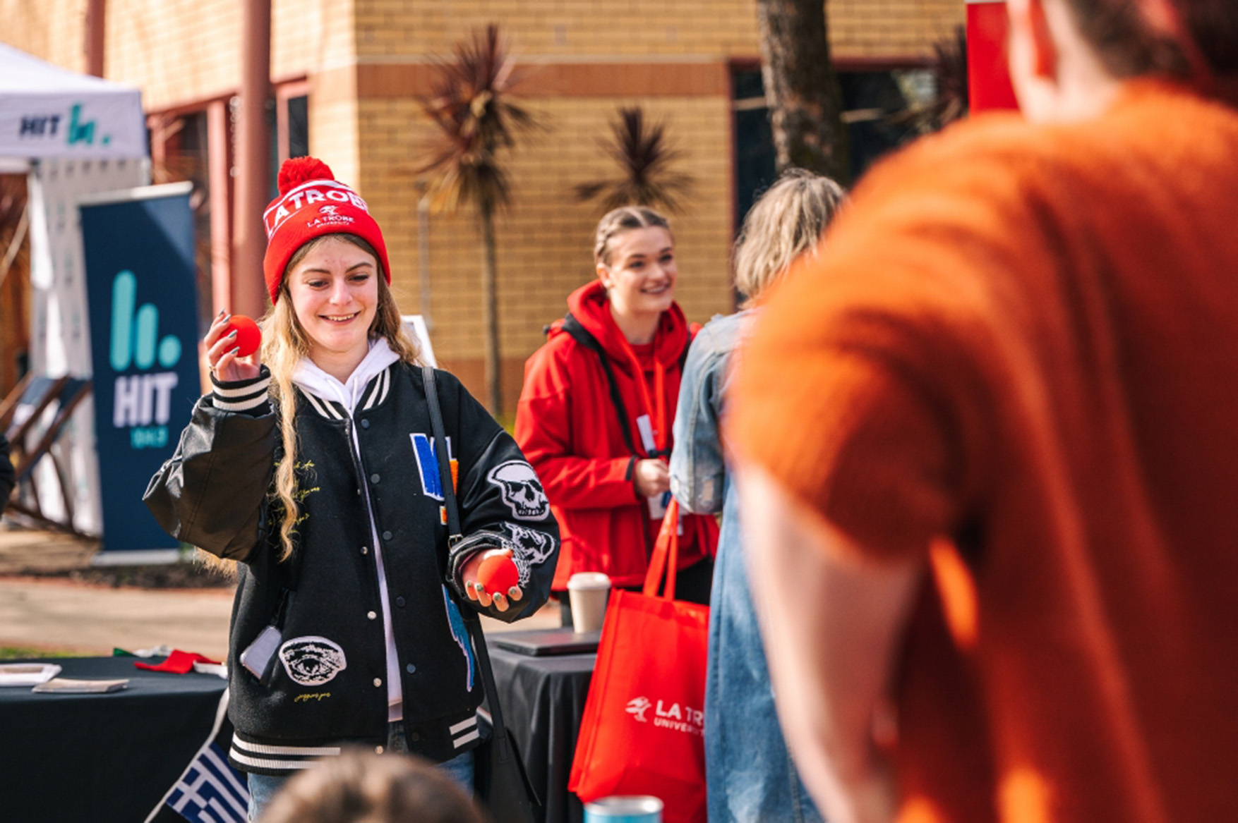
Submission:
[[[110,694],[0,688],[0,819],[146,819],[210,734],[227,683],[214,674],[142,671],[135,660],[33,661],[58,663],[59,677],[129,678],[129,688]]]

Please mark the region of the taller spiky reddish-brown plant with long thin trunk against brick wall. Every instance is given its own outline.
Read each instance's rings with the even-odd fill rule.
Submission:
[[[494,215],[511,202],[511,179],[500,153],[515,146],[517,135],[539,125],[532,111],[514,99],[520,80],[515,63],[499,27],[491,24],[469,41],[457,43],[452,57],[435,61],[432,93],[418,98],[436,126],[425,162],[415,167],[415,173],[428,183],[431,208],[453,213],[462,205],[477,207],[485,248],[482,298],[487,406],[495,416],[503,412],[503,385]]]

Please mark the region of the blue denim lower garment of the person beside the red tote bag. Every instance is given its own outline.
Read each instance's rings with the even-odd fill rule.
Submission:
[[[734,488],[727,489],[728,504]],[[704,770],[709,823],[818,823],[774,709],[734,506],[722,520],[709,600]]]

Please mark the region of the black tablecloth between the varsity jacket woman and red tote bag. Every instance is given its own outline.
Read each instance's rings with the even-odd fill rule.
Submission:
[[[576,738],[595,655],[531,657],[489,644],[503,719],[545,807],[546,823],[581,823],[584,809],[567,791]]]

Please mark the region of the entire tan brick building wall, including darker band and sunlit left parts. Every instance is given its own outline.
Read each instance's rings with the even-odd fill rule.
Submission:
[[[147,110],[233,94],[243,0],[109,0],[106,75],[142,88]],[[963,0],[831,0],[837,58],[914,59],[964,19]],[[85,0],[0,0],[0,40],[84,66]],[[394,287],[418,311],[413,177],[426,124],[413,95],[428,58],[490,21],[536,71],[525,85],[545,131],[510,155],[514,200],[498,222],[499,303],[509,407],[521,364],[593,277],[595,209],[571,187],[614,173],[598,147],[620,105],[670,121],[697,178],[673,220],[678,299],[693,321],[730,309],[728,62],[759,56],[754,0],[272,0],[272,78],[308,77],[310,147],[369,200]],[[433,215],[430,313],[439,358],[480,391],[482,248],[472,212]]]

